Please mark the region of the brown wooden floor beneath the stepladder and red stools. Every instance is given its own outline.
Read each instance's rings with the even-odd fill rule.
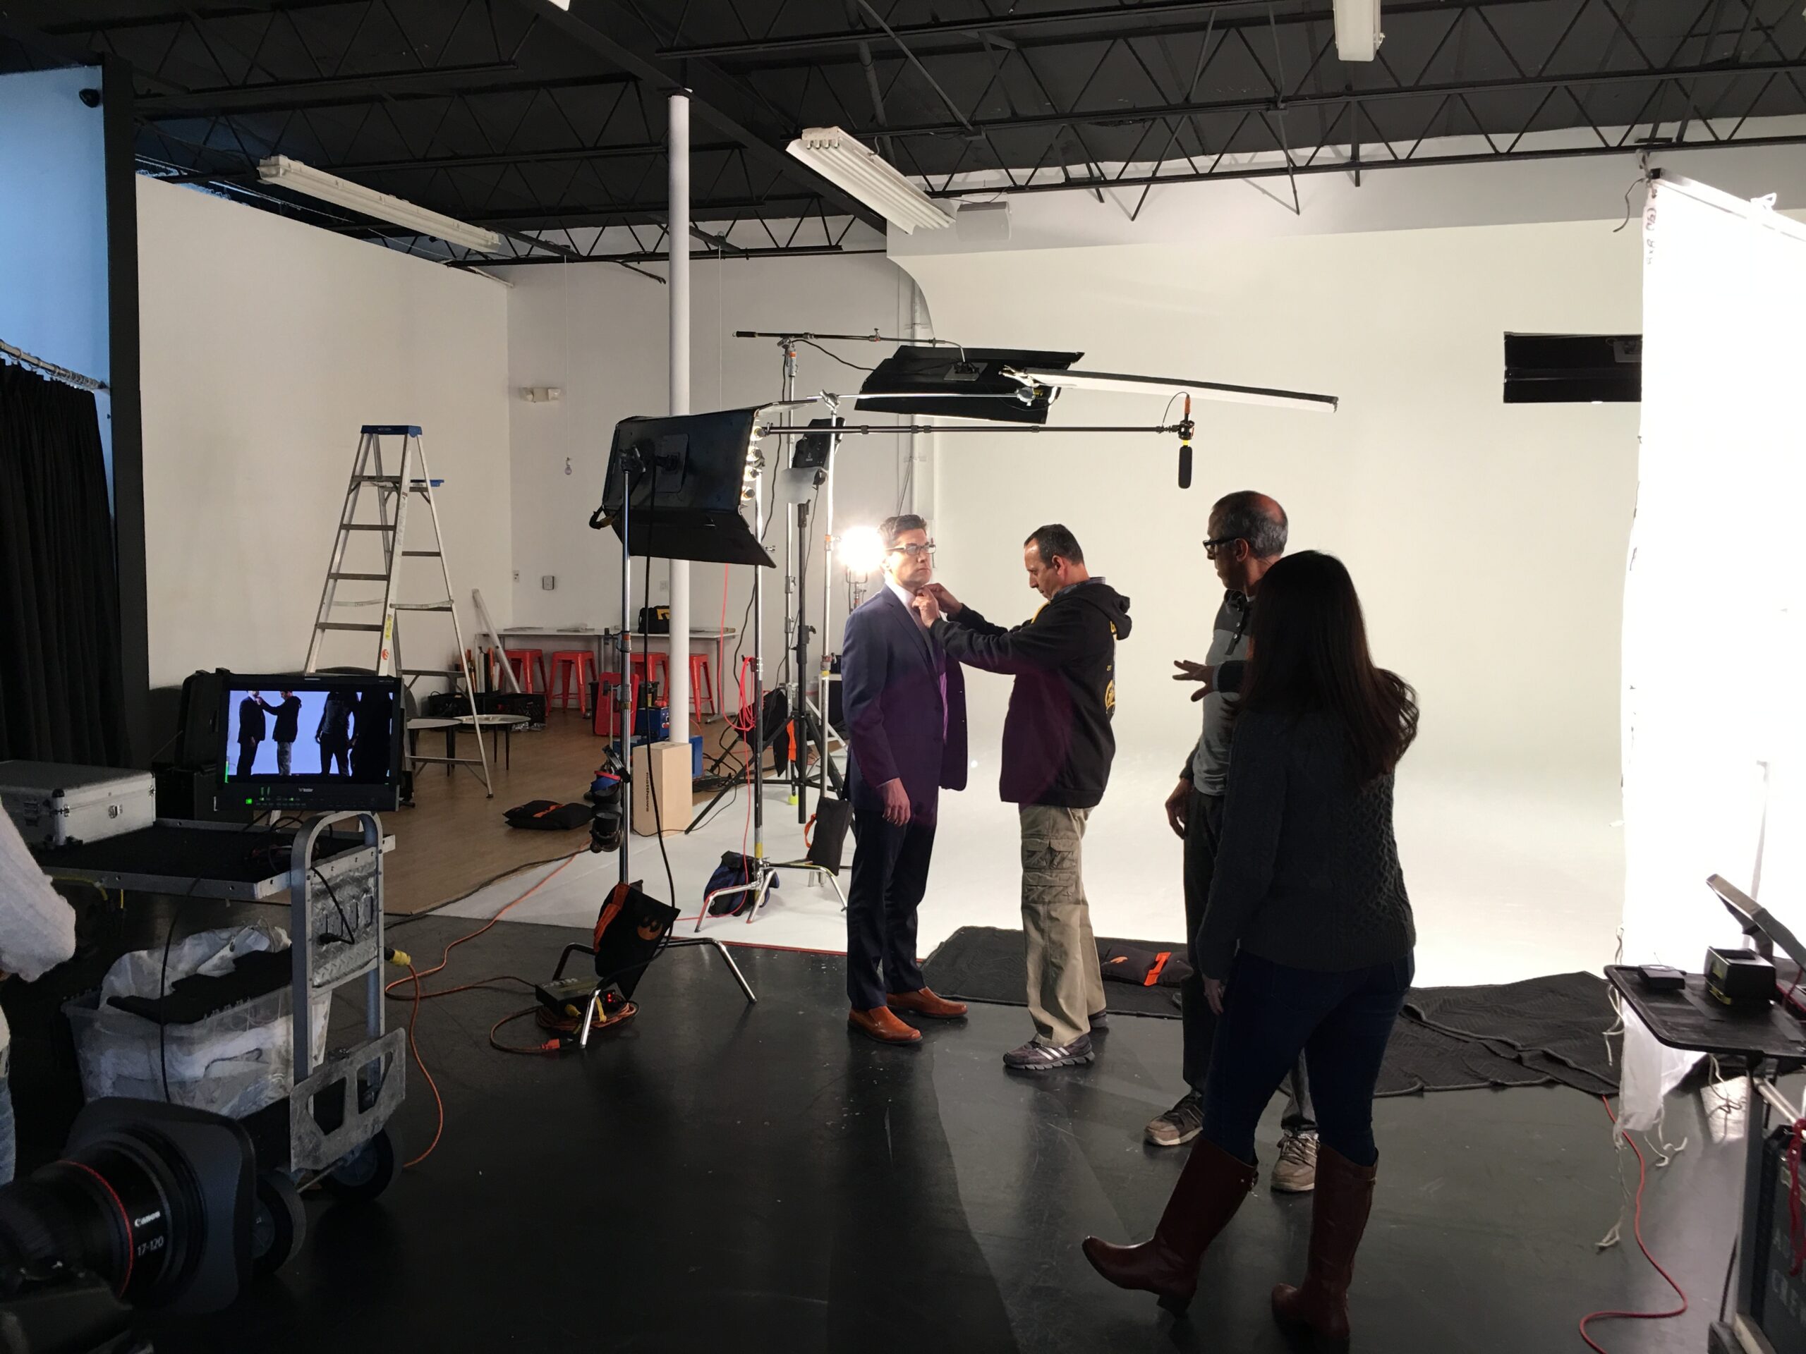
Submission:
[[[730,724],[710,719],[697,731],[704,758],[713,758]],[[583,850],[589,845],[583,829],[531,832],[509,827],[502,812],[527,800],[582,802],[603,746],[587,717],[553,709],[544,729],[515,735],[513,767],[491,764],[493,800],[484,798],[471,769],[453,767],[448,776],[444,767],[421,767],[414,778],[415,807],[383,818],[396,838],[396,850],[383,861],[386,910],[428,912],[535,861]],[[423,735],[421,751],[441,753],[439,737]],[[457,751],[475,756],[468,738],[459,740]],[[699,791],[697,803],[712,793]]]

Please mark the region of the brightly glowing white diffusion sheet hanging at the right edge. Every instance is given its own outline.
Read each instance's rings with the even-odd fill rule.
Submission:
[[[1698,971],[1708,944],[1743,942],[1710,874],[1806,924],[1806,226],[1658,181],[1642,242],[1624,957]],[[1647,1128],[1694,1058],[1625,1024],[1620,1127]]]

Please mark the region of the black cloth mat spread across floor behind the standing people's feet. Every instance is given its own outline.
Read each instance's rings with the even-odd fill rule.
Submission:
[[[1172,941],[1100,939],[1098,948],[1129,944],[1172,950]],[[943,997],[1024,1006],[1022,932],[961,926],[923,962],[923,977]],[[1105,982],[1118,1015],[1176,1020],[1176,988]],[[1593,1096],[1618,1092],[1618,1049],[1602,1036],[1616,1020],[1607,984],[1591,973],[1557,973],[1485,988],[1414,988],[1392,1029],[1380,1071],[1380,1096],[1474,1087],[1568,1085]]]

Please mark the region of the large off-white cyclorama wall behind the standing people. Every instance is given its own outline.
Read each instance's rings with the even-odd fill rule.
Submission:
[[[1203,657],[1221,596],[1206,515],[1224,491],[1262,489],[1293,549],[1347,561],[1378,661],[1418,684],[1418,767],[1613,785],[1636,406],[1501,403],[1504,330],[1638,332],[1638,233],[1613,224],[903,260],[945,338],[1342,397],[1327,417],[1199,404],[1190,491],[1170,439],[945,437],[943,580],[1022,619],[1022,538],[1073,527],[1134,599],[1118,738],[1178,767],[1196,706],[1170,661]],[[1053,421],[1156,422],[1161,403],[1067,395]],[[995,717],[1004,684],[972,686]]]

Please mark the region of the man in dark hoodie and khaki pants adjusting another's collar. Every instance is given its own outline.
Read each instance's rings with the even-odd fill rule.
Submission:
[[[1080,845],[1103,800],[1116,737],[1116,641],[1129,599],[1085,570],[1062,525],[1022,543],[1029,587],[1046,598],[1031,621],[1004,630],[939,583],[916,596],[948,659],[1015,677],[1004,719],[1002,798],[1022,818],[1022,935],[1035,1038],[1004,1067],[1042,1072],[1089,1063],[1103,1022],[1103,975],[1091,933]]]

